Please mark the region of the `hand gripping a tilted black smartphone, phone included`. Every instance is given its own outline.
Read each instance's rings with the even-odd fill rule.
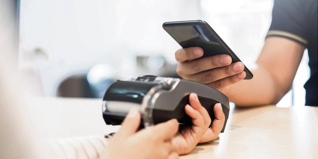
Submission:
[[[252,79],[252,73],[206,22],[166,22],[162,26],[183,47],[176,51],[176,71],[183,79],[218,90]]]

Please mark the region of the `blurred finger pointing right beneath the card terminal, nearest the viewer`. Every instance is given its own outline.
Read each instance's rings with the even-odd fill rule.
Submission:
[[[155,125],[151,133],[156,134],[159,139],[169,140],[178,132],[178,129],[178,121],[176,119],[171,119],[169,121]]]

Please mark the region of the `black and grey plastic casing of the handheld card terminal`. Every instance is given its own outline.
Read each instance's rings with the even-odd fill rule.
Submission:
[[[117,81],[113,83],[106,91],[104,101],[125,101],[141,104],[143,97],[148,91],[159,85],[153,80],[148,81]],[[156,102],[153,107],[153,121],[154,124],[168,121],[170,119],[177,119],[180,125],[190,126],[192,121],[190,117],[185,114],[184,107],[189,104],[189,94],[197,93],[199,101],[202,106],[208,111],[211,121],[213,121],[214,111],[213,107],[216,103],[221,103],[222,110],[225,114],[225,123],[221,132],[224,132],[225,125],[229,116],[230,106],[228,98],[216,89],[209,86],[180,79],[176,86],[169,90],[160,91],[156,97]],[[120,125],[126,114],[103,112],[103,118],[108,125]],[[143,123],[143,122],[141,122]],[[143,124],[141,124],[142,127]]]

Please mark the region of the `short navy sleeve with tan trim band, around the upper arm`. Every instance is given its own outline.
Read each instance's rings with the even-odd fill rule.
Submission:
[[[274,0],[272,23],[266,37],[278,36],[308,45],[308,11],[317,0]],[[314,5],[315,6],[315,5]],[[317,9],[316,9],[317,10]]]

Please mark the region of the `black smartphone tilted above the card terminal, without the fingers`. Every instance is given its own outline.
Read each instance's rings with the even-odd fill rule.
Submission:
[[[166,22],[162,24],[162,27],[181,47],[201,47],[204,51],[202,57],[227,54],[231,56],[232,63],[242,62],[211,26],[203,20]],[[244,79],[253,78],[253,74],[246,66],[244,71],[246,72]]]

